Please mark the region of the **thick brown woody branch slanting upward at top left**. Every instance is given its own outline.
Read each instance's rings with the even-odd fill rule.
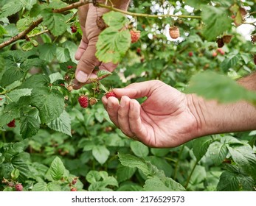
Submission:
[[[54,13],[64,13],[68,10],[72,10],[78,7],[81,7],[85,4],[89,4],[91,3],[91,0],[83,0],[83,1],[79,1],[79,2],[75,2],[74,4],[70,4],[67,7],[63,7],[61,9],[58,10],[53,10]],[[9,40],[4,41],[3,43],[0,43],[0,49],[4,48],[5,46],[10,45],[11,43],[14,43],[17,40],[23,39],[26,37],[26,35],[28,33],[30,33],[32,31],[32,29],[35,29],[35,27],[37,27],[39,24],[41,24],[43,22],[43,18],[39,18],[37,21],[34,21],[26,30],[24,30],[23,32],[20,32],[18,35],[15,35],[14,37],[10,38]]]

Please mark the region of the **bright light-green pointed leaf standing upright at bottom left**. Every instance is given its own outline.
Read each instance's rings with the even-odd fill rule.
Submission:
[[[60,157],[55,157],[47,173],[52,177],[52,180],[60,180],[65,172],[65,166],[63,165]]]

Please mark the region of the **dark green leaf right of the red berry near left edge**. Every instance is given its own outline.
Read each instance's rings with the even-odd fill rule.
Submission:
[[[38,120],[33,116],[21,116],[21,136],[31,138],[40,129]]]

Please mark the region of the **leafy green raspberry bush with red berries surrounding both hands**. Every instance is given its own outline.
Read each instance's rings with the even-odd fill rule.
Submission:
[[[232,80],[255,71],[254,1],[131,1],[128,16],[106,13],[96,56],[117,69],[74,90],[77,7],[89,2],[0,1],[0,190],[255,191],[255,131],[153,149],[114,127],[100,101],[111,88],[160,79],[255,104]],[[246,38],[236,30],[244,25]]]

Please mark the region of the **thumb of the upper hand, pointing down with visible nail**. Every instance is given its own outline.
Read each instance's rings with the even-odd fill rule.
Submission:
[[[78,82],[85,83],[92,71],[94,71],[94,67],[100,65],[100,61],[95,57],[96,41],[97,38],[91,40],[86,51],[84,51],[82,57],[80,57],[75,71],[75,79],[77,79]]]

